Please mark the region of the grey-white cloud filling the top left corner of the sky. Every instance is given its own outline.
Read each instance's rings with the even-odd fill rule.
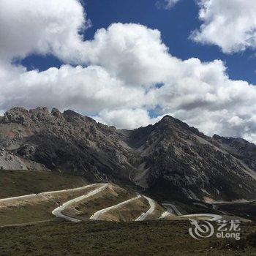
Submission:
[[[81,42],[86,27],[83,7],[76,0],[1,0],[1,59],[29,53],[64,53]]]

